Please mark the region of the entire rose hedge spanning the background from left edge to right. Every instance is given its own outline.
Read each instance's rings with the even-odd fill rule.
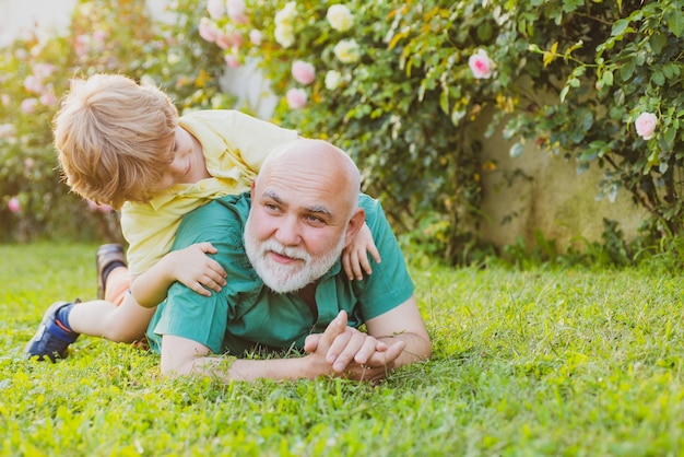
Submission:
[[[172,10],[165,24],[139,2],[82,0],[68,35],[4,50],[13,96],[0,106],[0,230],[17,216],[32,233],[89,219],[58,183],[49,147],[49,94],[69,77],[118,71],[162,85],[181,110],[229,107],[220,78],[252,60],[280,99],[274,120],[346,149],[396,226],[450,262],[480,244],[480,183],[496,168],[481,161],[483,122],[514,156],[533,143],[580,172],[601,167],[600,195],[629,191],[651,212],[653,237],[684,228],[679,1],[192,0]]]

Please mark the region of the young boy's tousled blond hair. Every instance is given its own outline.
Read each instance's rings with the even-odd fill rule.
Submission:
[[[174,159],[178,112],[172,99],[123,75],[73,80],[54,124],[67,184],[115,209],[148,201]]]

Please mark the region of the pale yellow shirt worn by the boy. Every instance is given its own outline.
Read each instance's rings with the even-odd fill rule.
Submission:
[[[212,177],[177,184],[148,203],[123,204],[121,231],[131,274],[145,272],[170,250],[185,214],[214,198],[248,190],[273,148],[297,138],[295,130],[236,110],[196,112],[178,124],[201,143]]]

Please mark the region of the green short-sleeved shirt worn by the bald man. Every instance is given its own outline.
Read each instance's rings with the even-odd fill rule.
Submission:
[[[373,274],[350,281],[338,260],[319,280],[315,318],[302,298],[272,292],[251,267],[243,241],[249,207],[249,192],[245,192],[213,200],[184,218],[173,249],[212,243],[217,249],[212,257],[226,270],[227,285],[202,296],[174,283],[148,329],[157,352],[162,335],[197,341],[216,354],[241,355],[257,345],[300,349],[307,335],[322,332],[342,309],[347,312],[349,325],[359,327],[413,295],[413,282],[382,208],[362,195],[359,207],[366,211],[366,223],[382,261],[372,263]]]

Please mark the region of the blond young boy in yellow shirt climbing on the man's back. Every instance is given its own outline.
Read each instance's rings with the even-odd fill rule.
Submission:
[[[74,192],[121,210],[128,266],[120,246],[102,246],[101,300],[54,303],[26,355],[55,362],[80,333],[139,340],[175,281],[202,295],[221,291],[226,273],[207,256],[211,244],[169,253],[178,224],[211,199],[248,190],[266,155],[296,138],[235,110],[179,117],[164,92],[122,75],[74,80],[55,118],[59,161]],[[366,253],[379,261],[367,226],[344,253],[350,279],[370,273]]]

